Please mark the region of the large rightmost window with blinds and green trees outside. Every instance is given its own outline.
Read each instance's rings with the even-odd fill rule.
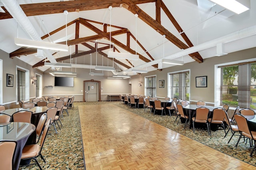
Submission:
[[[216,103],[256,108],[256,61],[216,67]]]

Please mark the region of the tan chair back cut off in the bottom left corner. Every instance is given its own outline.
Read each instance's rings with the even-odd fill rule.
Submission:
[[[2,170],[13,170],[16,141],[0,141],[0,165]]]

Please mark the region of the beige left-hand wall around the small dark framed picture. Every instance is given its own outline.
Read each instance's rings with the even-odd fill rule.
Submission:
[[[37,68],[32,68],[27,63],[24,63],[20,59],[17,59],[14,57],[13,59],[10,59],[9,54],[0,50],[0,59],[3,60],[3,84],[2,84],[2,90],[3,90],[3,100],[2,104],[6,106],[6,108],[10,107],[16,107],[16,66],[20,66],[22,68],[26,68],[30,71],[30,99],[35,98],[36,96],[36,87],[34,84],[32,84],[32,76],[36,76],[36,73],[44,75],[43,72],[38,70]],[[13,87],[6,87],[6,74],[12,74],[14,75],[14,85]]]

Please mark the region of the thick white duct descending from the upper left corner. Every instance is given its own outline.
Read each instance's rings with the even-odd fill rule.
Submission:
[[[28,20],[28,17],[18,4],[16,0],[0,0],[4,4],[4,8],[11,14],[11,16],[19,23],[22,29],[35,41],[42,41],[41,37],[36,32],[36,29]],[[51,63],[57,63],[49,50],[43,50]]]

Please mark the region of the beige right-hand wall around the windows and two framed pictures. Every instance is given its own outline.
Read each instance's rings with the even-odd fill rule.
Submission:
[[[256,48],[246,49],[238,51],[235,53],[229,53],[221,57],[211,57],[204,59],[203,63],[197,63],[196,61],[192,63],[187,63],[182,66],[172,66],[169,68],[164,68],[162,71],[153,71],[143,74],[144,76],[156,75],[157,88],[156,96],[157,97],[166,97],[167,96],[167,73],[176,72],[180,70],[190,69],[190,100],[198,101],[202,100],[208,103],[214,103],[214,65],[221,63],[228,63],[232,61],[240,61],[245,59],[256,58]],[[256,59],[255,59],[256,60]],[[196,88],[196,77],[197,76],[207,76],[208,83],[207,88]],[[132,79],[138,80],[138,77]],[[158,80],[164,80],[164,88],[158,87]],[[144,84],[143,84],[144,86]],[[144,88],[144,87],[143,87]],[[138,91],[132,88],[132,93],[137,93]],[[143,93],[144,94],[144,93]],[[169,96],[172,98],[172,96]]]

